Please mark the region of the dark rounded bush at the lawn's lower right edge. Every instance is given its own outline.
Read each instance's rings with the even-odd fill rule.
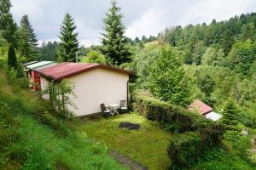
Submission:
[[[223,127],[211,125],[196,132],[186,132],[172,138],[167,149],[171,169],[190,167],[200,161],[206,150],[221,144]]]

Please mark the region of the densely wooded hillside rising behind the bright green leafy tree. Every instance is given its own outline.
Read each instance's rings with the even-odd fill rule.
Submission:
[[[150,90],[148,85],[154,82],[149,78],[154,72],[151,67],[160,62],[168,63],[168,57],[160,59],[162,44],[172,46],[186,64],[183,65],[185,77],[191,80],[189,84],[193,92],[189,98],[201,99],[215,111],[222,111],[225,102],[232,99],[241,108],[239,122],[253,127],[256,117],[255,20],[256,15],[252,13],[226,21],[212,20],[209,25],[167,28],[159,34],[157,41],[134,45],[131,63],[122,66],[137,72],[137,88]],[[251,33],[247,34],[246,30]],[[160,79],[167,69],[169,67],[159,69],[159,76],[155,77]],[[163,80],[167,82],[169,77],[163,77]],[[160,90],[166,90],[169,84],[172,83],[162,83]],[[156,94],[153,91],[159,99],[165,99],[169,92]],[[175,93],[170,96],[175,97]]]

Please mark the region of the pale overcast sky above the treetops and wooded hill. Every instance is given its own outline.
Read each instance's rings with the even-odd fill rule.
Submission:
[[[11,0],[17,23],[28,14],[39,42],[58,41],[65,13],[72,14],[80,45],[98,44],[110,0]],[[256,0],[118,0],[126,36],[157,35],[168,26],[209,23],[256,12]]]

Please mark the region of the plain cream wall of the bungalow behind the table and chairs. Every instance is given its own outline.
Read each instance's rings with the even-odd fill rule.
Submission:
[[[68,81],[74,83],[74,93],[77,98],[73,98],[77,106],[74,111],[76,116],[88,115],[100,112],[100,105],[119,104],[120,100],[127,99],[127,82],[129,75],[108,69],[96,68],[85,71],[73,77],[68,77]],[[45,78],[41,78],[42,89],[45,89]]]

